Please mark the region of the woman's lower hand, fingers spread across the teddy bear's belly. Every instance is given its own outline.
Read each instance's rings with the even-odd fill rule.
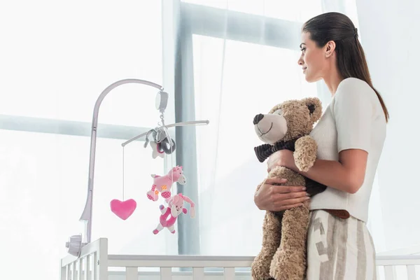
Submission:
[[[299,186],[277,186],[286,183],[286,179],[269,178],[260,186],[254,195],[255,205],[266,211],[283,211],[302,206],[302,202],[309,200],[306,188]]]

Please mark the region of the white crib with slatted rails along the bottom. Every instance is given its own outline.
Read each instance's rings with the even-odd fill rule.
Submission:
[[[60,263],[60,280],[245,280],[253,257],[109,255],[108,239],[83,246],[80,256]],[[420,279],[420,255],[377,256],[378,279]]]

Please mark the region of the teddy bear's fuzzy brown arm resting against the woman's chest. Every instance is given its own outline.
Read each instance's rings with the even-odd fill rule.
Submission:
[[[300,171],[307,172],[314,165],[317,149],[316,141],[309,135],[297,139],[293,155]]]

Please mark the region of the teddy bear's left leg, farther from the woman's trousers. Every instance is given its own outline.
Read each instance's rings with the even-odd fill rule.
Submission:
[[[255,256],[251,265],[253,280],[272,279],[269,275],[269,266],[280,245],[281,222],[279,217],[273,212],[266,211],[262,225],[262,248],[260,253]]]

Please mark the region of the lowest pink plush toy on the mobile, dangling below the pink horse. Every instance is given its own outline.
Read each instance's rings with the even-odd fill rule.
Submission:
[[[163,230],[163,228],[167,228],[169,232],[172,234],[175,233],[175,227],[174,224],[176,222],[176,218],[179,216],[179,214],[187,214],[187,209],[184,208],[184,201],[188,202],[190,204],[190,216],[191,218],[195,217],[195,204],[192,200],[190,200],[189,197],[186,197],[185,195],[182,195],[182,193],[179,193],[178,195],[174,195],[169,202],[168,207],[165,209],[163,205],[160,205],[159,209],[162,215],[160,215],[160,223],[156,227],[155,230],[153,230],[153,234],[157,235],[158,232]]]

